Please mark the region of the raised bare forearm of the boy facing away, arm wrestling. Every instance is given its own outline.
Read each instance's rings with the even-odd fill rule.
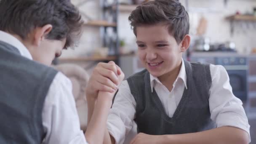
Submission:
[[[112,105],[112,100],[109,99],[109,95],[111,94],[112,93],[108,92],[99,92],[99,96],[95,104],[91,120],[88,123],[88,127],[85,132],[86,140],[90,144],[103,143],[103,136],[106,129],[107,116],[109,109]],[[92,108],[93,106],[91,105],[90,110],[92,110]]]

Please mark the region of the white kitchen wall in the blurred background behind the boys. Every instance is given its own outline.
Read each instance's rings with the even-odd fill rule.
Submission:
[[[82,0],[72,0],[74,4]],[[93,19],[101,19],[100,0],[94,0],[81,6],[79,9],[87,13]],[[125,1],[125,0],[123,0]],[[129,0],[127,0],[129,1]],[[185,0],[180,0],[184,5]],[[204,16],[208,21],[208,29],[205,36],[211,38],[211,42],[233,41],[236,44],[237,50],[243,52],[245,48],[256,47],[256,23],[249,25],[238,23],[235,26],[235,32],[230,34],[229,21],[225,20],[226,16],[234,14],[237,10],[241,13],[252,12],[253,7],[256,7],[256,0],[228,0],[227,5],[224,5],[224,0],[189,0],[189,7],[194,8],[194,11],[189,11],[190,16],[190,34],[193,36],[201,16]],[[210,11],[198,12],[195,8],[206,8]],[[118,33],[121,40],[125,40],[126,47],[136,50],[135,36],[128,22],[130,13],[120,12],[118,17]],[[249,26],[249,29],[246,27]],[[242,29],[241,27],[245,28]],[[99,27],[84,27],[84,33],[81,37],[80,44],[75,50],[64,51],[63,57],[69,56],[86,56],[87,53],[95,48],[101,47],[100,28]]]

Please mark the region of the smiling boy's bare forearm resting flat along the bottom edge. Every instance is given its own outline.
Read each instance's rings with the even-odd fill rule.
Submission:
[[[248,144],[248,133],[234,127],[221,127],[198,133],[164,135],[163,144]]]

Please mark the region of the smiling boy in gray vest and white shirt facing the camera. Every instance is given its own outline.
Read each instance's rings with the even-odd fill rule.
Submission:
[[[105,142],[122,144],[135,122],[139,134],[131,144],[248,144],[250,125],[224,67],[182,59],[190,43],[184,6],[153,0],[129,21],[146,69],[121,84]]]

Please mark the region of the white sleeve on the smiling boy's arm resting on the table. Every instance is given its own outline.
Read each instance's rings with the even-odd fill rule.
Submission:
[[[232,126],[246,131],[250,137],[250,125],[243,109],[243,103],[232,93],[229,76],[221,65],[210,65],[212,85],[209,90],[211,119],[217,127]],[[249,138],[251,141],[251,138]]]

